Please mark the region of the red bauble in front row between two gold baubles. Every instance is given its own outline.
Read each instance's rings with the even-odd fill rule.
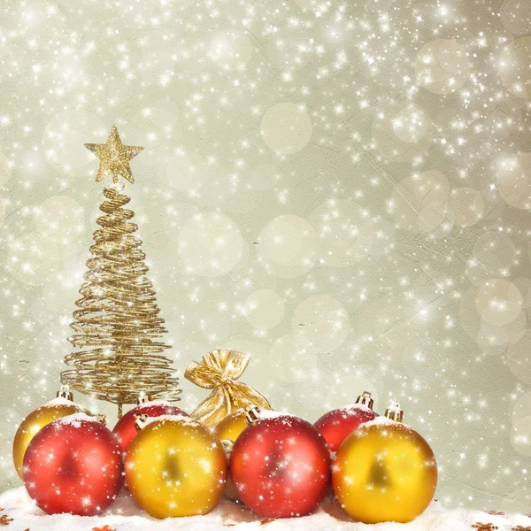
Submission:
[[[261,516],[311,512],[325,494],[330,455],[322,435],[299,417],[263,412],[246,427],[230,458],[230,474],[244,504]]]

